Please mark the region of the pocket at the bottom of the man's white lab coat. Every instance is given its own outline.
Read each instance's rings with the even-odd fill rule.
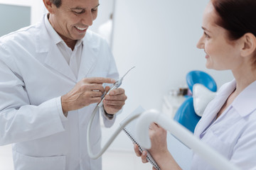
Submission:
[[[30,157],[14,153],[15,170],[65,170],[65,156]]]

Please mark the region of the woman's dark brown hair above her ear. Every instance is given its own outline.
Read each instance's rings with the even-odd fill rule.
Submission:
[[[228,30],[230,40],[245,33],[256,36],[256,0],[211,0],[218,14],[215,23]]]

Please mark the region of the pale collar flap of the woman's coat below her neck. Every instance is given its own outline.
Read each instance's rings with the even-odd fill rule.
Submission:
[[[241,117],[245,117],[256,109],[256,81],[247,86],[233,101],[232,106]],[[246,105],[246,107],[245,107]]]

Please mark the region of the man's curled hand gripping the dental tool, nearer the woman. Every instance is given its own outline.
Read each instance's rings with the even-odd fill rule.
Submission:
[[[108,91],[109,89],[110,87],[107,86],[105,90]],[[110,94],[105,96],[103,106],[108,114],[114,115],[124,106],[126,100],[127,96],[124,94],[124,89],[114,89],[110,91]]]

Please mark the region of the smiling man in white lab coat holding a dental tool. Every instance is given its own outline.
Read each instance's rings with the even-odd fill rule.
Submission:
[[[98,0],[43,0],[41,23],[0,38],[0,145],[14,143],[15,169],[101,169],[87,155],[87,124],[119,77],[105,40],[87,30]],[[108,77],[108,78],[106,78]],[[105,97],[106,127],[124,106],[124,89]],[[100,114],[92,123],[100,150]]]

